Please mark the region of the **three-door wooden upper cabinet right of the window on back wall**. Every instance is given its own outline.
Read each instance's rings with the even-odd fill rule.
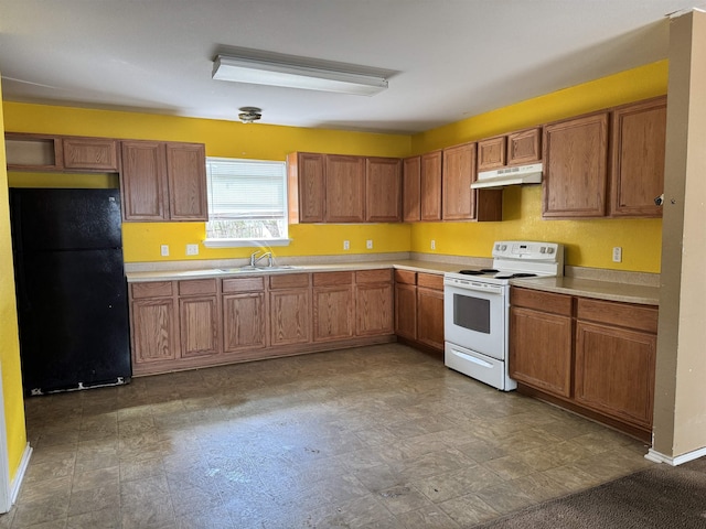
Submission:
[[[289,222],[402,219],[402,161],[295,152],[287,156]]]

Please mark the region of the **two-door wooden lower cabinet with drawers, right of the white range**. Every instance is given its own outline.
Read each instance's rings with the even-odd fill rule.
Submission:
[[[657,307],[511,289],[518,389],[639,439],[652,434]]]

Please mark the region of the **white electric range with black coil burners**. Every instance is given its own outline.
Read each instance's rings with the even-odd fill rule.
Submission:
[[[503,391],[517,382],[507,366],[510,280],[564,274],[564,246],[501,240],[490,269],[443,274],[445,364]]]

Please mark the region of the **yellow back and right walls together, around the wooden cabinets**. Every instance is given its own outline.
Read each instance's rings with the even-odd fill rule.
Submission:
[[[406,156],[498,133],[542,125],[614,105],[666,93],[666,61],[596,79],[505,108],[475,116],[414,137],[372,134],[267,125],[243,125],[173,116],[92,110],[6,102],[6,129],[17,132],[105,136],[116,138],[195,141],[212,156],[284,160],[293,151]],[[14,182],[14,175],[12,175]],[[14,185],[14,184],[13,184]],[[414,225],[295,225],[292,244],[275,248],[276,256],[343,255],[418,251],[490,257],[498,239],[536,239],[564,242],[568,264],[660,271],[660,219],[542,220],[541,186],[509,187],[504,192],[502,223],[418,223]],[[203,223],[130,223],[124,227],[128,262],[225,259],[245,257],[252,248],[204,248],[186,256],[188,244],[205,237]],[[373,239],[374,249],[365,250]],[[430,241],[436,250],[430,250]],[[160,245],[170,245],[162,258]],[[612,247],[623,249],[623,261],[611,260]]]

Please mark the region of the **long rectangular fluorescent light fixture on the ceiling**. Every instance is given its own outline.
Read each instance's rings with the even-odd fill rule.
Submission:
[[[213,78],[233,83],[336,91],[357,96],[373,96],[387,88],[387,80],[376,75],[227,55],[216,56],[213,63]]]

